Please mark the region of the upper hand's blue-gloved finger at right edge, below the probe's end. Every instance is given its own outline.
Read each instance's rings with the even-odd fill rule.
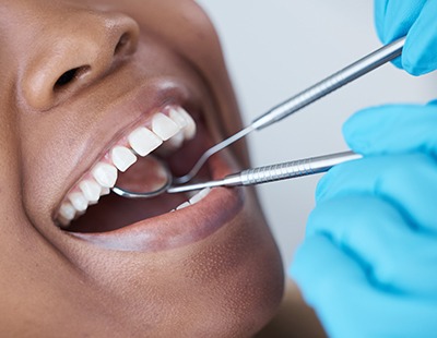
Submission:
[[[425,1],[421,14],[409,32],[402,51],[402,68],[410,74],[423,75],[437,69],[436,15],[437,1]]]

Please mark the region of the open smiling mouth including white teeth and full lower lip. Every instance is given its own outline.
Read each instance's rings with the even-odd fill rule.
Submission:
[[[214,189],[197,194],[164,194],[127,200],[110,194],[119,182],[141,190],[165,174],[185,173],[211,144],[204,121],[181,106],[164,106],[127,130],[78,180],[63,197],[55,222],[66,233],[118,251],[161,251],[201,240],[243,208],[240,190]],[[224,152],[201,170],[202,179],[218,178],[234,167]],[[157,184],[157,183],[156,183]]]

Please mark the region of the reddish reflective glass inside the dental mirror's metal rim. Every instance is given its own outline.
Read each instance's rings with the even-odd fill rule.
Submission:
[[[140,193],[152,192],[167,183],[165,165],[156,157],[140,157],[126,172],[120,173],[116,185],[122,190]]]

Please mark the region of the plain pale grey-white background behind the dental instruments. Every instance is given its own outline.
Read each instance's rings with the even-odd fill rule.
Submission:
[[[215,23],[248,124],[380,43],[370,0],[199,0]],[[345,150],[341,126],[354,111],[385,102],[437,98],[436,76],[413,77],[391,64],[248,137],[255,166]],[[303,240],[320,177],[259,186],[287,266]]]

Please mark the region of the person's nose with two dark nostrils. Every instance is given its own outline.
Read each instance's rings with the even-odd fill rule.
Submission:
[[[98,82],[134,53],[137,22],[119,13],[72,13],[45,27],[22,77],[27,105],[48,110]]]

